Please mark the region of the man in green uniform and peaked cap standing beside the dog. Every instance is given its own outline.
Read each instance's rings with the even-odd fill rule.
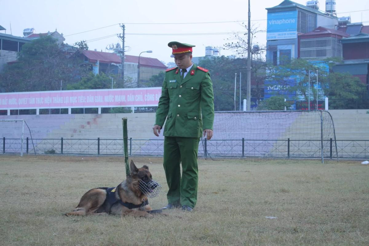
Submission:
[[[194,45],[169,42],[177,67],[167,69],[154,134],[164,127],[164,170],[169,191],[163,209],[192,211],[197,201],[197,150],[201,135],[213,136],[214,94],[207,69],[192,62]],[[182,163],[182,177],[180,164]]]

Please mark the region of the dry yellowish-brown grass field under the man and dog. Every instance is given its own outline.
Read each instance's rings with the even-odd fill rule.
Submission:
[[[132,159],[163,186],[152,207],[166,205],[162,158]],[[124,157],[0,156],[0,245],[369,245],[360,162],[200,159],[194,211],[145,219],[63,215],[90,188],[118,185]]]

